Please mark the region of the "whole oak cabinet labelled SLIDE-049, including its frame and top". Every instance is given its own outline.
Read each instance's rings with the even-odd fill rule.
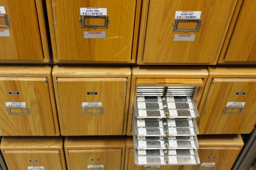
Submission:
[[[51,66],[0,66],[0,135],[59,136]]]

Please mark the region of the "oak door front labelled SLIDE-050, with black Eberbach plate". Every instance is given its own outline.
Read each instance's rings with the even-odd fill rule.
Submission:
[[[122,135],[126,85],[126,78],[58,78],[63,135]]]

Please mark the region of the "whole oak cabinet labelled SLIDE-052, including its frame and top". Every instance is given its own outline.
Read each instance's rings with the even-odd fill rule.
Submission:
[[[208,71],[197,118],[199,134],[250,133],[256,123],[256,68],[209,66]]]

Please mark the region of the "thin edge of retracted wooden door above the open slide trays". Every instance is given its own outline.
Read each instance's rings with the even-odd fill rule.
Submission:
[[[202,87],[200,78],[137,78],[136,86],[187,86]]]

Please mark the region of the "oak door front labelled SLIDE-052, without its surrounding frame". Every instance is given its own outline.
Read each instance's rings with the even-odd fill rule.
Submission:
[[[198,120],[199,133],[250,133],[256,120],[255,86],[254,78],[214,78]],[[242,106],[243,103],[233,104],[233,102],[245,102],[244,108],[237,107]],[[226,106],[234,106],[234,108]],[[239,114],[240,112],[242,113]]]

